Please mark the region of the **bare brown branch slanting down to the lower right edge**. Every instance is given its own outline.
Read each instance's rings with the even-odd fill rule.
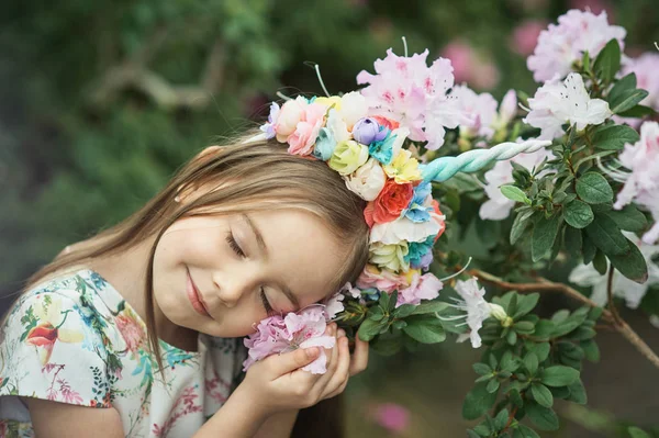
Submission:
[[[577,301],[580,301],[591,307],[599,307],[592,300],[583,296],[577,290],[570,288],[563,283],[555,283],[541,277],[538,278],[538,283],[510,283],[495,277],[491,273],[483,272],[479,269],[470,269],[469,274],[479,278],[480,280],[495,284],[505,290],[516,290],[518,292],[561,292]],[[602,317],[613,324],[613,327],[623,335],[625,339],[627,339],[636,349],[648,359],[656,368],[659,369],[659,356],[629,327],[629,325],[619,315],[617,316],[619,319],[616,321],[616,317],[612,314],[612,312],[606,308],[602,310]]]

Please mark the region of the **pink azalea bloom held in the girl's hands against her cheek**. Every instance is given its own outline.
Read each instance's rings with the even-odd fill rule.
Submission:
[[[276,315],[261,321],[257,332],[245,338],[248,357],[243,369],[246,371],[254,362],[275,353],[322,347],[319,358],[301,369],[312,374],[325,373],[327,357],[324,349],[334,347],[336,341],[333,336],[324,335],[326,326],[325,310],[320,305],[306,307],[298,314]]]

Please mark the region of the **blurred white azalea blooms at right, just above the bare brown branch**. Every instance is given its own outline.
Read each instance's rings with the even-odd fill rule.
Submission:
[[[625,232],[624,234],[629,240],[638,246],[640,254],[643,254],[643,257],[646,259],[648,266],[648,280],[645,283],[639,284],[636,281],[629,280],[616,269],[613,271],[612,291],[614,296],[625,299],[627,307],[637,308],[647,293],[648,288],[651,284],[659,283],[659,266],[655,265],[651,260],[655,255],[659,254],[659,245],[647,245],[639,242],[633,233]],[[591,294],[591,300],[599,306],[606,304],[607,273],[601,274],[592,263],[581,263],[577,266],[572,272],[570,272],[568,280],[584,288],[592,287],[593,292]]]

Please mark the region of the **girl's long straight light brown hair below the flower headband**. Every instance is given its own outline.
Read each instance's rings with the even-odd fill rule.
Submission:
[[[331,290],[354,281],[368,260],[365,201],[350,192],[340,176],[323,161],[290,155],[284,145],[275,141],[243,142],[238,139],[233,145],[206,149],[188,161],[146,205],[74,246],[69,252],[60,254],[30,277],[25,290],[53,273],[130,249],[155,235],[146,272],[145,308],[150,347],[163,369],[153,308],[153,261],[165,231],[183,216],[273,209],[309,211],[319,216],[347,249]],[[190,203],[175,202],[180,192],[202,187],[212,189]]]

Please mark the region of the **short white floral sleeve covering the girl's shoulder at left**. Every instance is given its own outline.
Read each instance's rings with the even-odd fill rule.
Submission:
[[[122,369],[116,352],[126,348],[123,300],[109,288],[83,269],[24,292],[0,327],[0,396],[109,406],[109,379]]]

